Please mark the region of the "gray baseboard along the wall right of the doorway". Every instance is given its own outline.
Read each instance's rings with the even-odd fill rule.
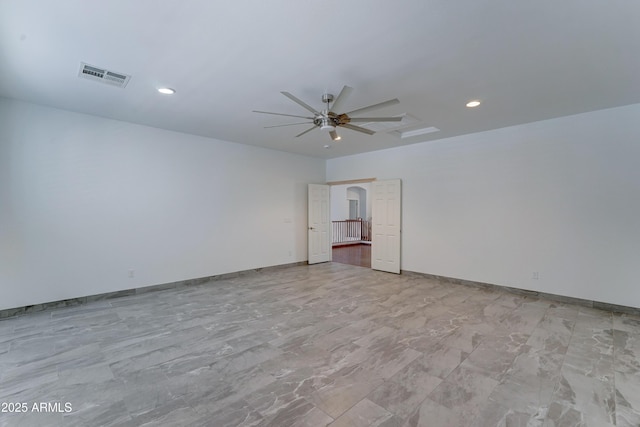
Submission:
[[[600,310],[611,311],[613,313],[630,314],[640,316],[640,308],[628,307],[626,305],[609,304],[606,302],[592,301],[582,298],[567,297],[564,295],[548,294],[546,292],[530,291],[526,289],[512,288],[509,286],[495,285],[492,283],[474,282],[472,280],[456,279],[453,277],[437,276],[435,274],[418,273],[415,271],[402,270],[402,274],[415,275],[425,277],[427,279],[435,279],[440,282],[452,283],[456,285],[473,286],[476,288],[501,289],[517,295],[526,295],[538,298],[549,299],[552,301],[580,305],[583,307],[597,308]]]

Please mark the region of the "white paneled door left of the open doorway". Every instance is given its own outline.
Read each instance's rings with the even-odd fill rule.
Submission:
[[[309,184],[309,264],[331,261],[330,188]]]

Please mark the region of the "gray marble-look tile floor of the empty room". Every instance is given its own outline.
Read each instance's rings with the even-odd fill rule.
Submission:
[[[638,426],[639,356],[638,317],[298,266],[0,321],[0,425]]]

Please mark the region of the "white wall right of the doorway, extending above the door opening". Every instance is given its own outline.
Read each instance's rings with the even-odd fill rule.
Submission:
[[[369,176],[403,181],[404,270],[640,307],[640,104],[327,162]]]

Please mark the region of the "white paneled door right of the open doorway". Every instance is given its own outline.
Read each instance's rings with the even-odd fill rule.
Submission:
[[[371,187],[371,268],[400,274],[400,180],[374,181]]]

